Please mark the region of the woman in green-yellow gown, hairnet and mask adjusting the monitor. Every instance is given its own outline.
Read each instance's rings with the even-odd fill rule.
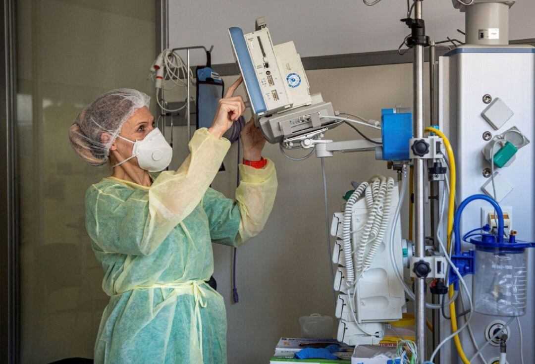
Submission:
[[[236,81],[219,102],[211,128],[195,131],[177,171],[172,149],[149,112],[149,97],[106,92],[83,109],[71,145],[91,165],[113,173],[86,193],[86,228],[110,296],[95,344],[96,363],[226,363],[223,298],[205,283],[212,242],[240,246],[258,234],[277,191],[265,140],[249,121],[236,199],[209,186],[230,142],[223,134],[243,114]]]

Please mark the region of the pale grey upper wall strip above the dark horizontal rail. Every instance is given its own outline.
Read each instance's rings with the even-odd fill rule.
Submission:
[[[227,28],[252,32],[255,19],[264,16],[273,42],[294,41],[302,57],[384,51],[397,49],[409,33],[400,22],[406,13],[406,2],[401,0],[383,0],[375,6],[361,0],[170,0],[169,38],[171,47],[213,44],[212,63],[231,63]],[[511,9],[511,39],[535,38],[534,13],[535,2],[517,1]],[[424,1],[424,19],[433,40],[447,36],[463,40],[456,29],[464,29],[464,14],[454,9],[451,0]],[[192,53],[192,62],[202,63],[204,56]]]

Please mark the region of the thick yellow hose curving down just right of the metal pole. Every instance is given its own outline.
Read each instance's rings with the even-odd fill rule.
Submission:
[[[453,231],[453,218],[455,213],[455,157],[453,155],[453,149],[452,144],[449,143],[448,138],[442,131],[435,129],[435,128],[425,128],[426,133],[434,133],[442,138],[442,141],[444,142],[444,146],[446,147],[446,152],[448,154],[449,159],[449,201],[448,201],[448,251],[449,251],[449,245],[452,237],[452,231]],[[455,242],[456,244],[461,244],[461,242]],[[453,284],[449,285],[448,289],[448,297],[453,297]],[[449,305],[449,312],[450,316],[452,316],[452,332],[457,331],[457,313],[455,311],[455,302],[452,302]],[[453,340],[455,342],[455,347],[457,348],[457,353],[459,354],[459,357],[461,358],[461,361],[464,364],[470,364],[470,361],[466,357],[463,351],[463,347],[461,345],[461,340],[459,339],[458,335],[455,335],[453,337]]]

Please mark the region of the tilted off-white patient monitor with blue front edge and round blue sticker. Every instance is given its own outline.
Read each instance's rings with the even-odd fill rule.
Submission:
[[[243,76],[253,118],[270,143],[323,133],[338,125],[330,102],[310,94],[307,75],[294,42],[273,45],[264,18],[255,31],[228,29],[236,64]]]

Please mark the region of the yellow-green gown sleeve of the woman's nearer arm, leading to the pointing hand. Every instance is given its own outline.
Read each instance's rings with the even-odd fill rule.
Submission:
[[[230,148],[198,129],[191,153],[177,171],[158,175],[148,189],[119,183],[93,185],[86,193],[86,228],[103,252],[149,255],[201,202]]]

